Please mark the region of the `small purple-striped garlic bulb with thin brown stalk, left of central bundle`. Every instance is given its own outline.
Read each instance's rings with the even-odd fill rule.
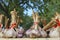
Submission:
[[[23,29],[23,27],[19,26],[19,23],[21,23],[21,22],[22,22],[22,20],[18,16],[18,18],[17,18],[17,28],[15,28],[16,32],[17,32],[17,36],[16,36],[17,38],[22,38],[23,35],[24,35],[24,29]]]

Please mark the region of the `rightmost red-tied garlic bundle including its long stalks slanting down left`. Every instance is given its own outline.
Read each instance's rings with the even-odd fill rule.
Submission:
[[[52,27],[52,28],[51,28]],[[60,37],[60,14],[56,13],[55,18],[53,18],[46,26],[44,26],[44,30],[51,28],[49,31],[49,36],[51,38]]]

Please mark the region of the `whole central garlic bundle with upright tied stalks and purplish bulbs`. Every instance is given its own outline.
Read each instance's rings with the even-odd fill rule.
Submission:
[[[35,38],[35,37],[46,37],[47,33],[38,25],[38,23],[39,23],[38,13],[33,12],[33,20],[34,20],[34,24],[30,29],[28,29],[26,31],[26,35],[28,37],[33,37],[33,38]]]

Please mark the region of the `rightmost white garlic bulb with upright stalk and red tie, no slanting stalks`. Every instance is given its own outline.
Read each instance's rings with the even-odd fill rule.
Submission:
[[[49,36],[51,38],[59,38],[60,37],[60,14],[56,13],[55,16],[55,26],[52,27],[52,30],[50,31]]]

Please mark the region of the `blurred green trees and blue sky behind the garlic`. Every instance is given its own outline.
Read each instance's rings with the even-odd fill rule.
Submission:
[[[0,0],[0,13],[8,18],[14,8],[23,20],[20,26],[28,29],[33,24],[32,10],[38,12],[40,18],[47,24],[55,12],[60,12],[60,0]],[[39,25],[43,27],[43,22],[41,21]]]

